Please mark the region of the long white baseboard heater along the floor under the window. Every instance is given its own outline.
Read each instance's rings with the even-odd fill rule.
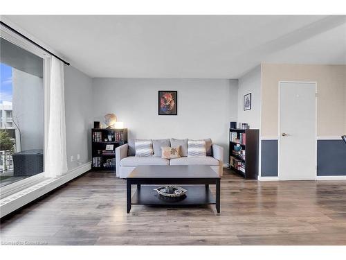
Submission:
[[[6,198],[0,200],[0,218],[10,214],[12,211],[23,207],[24,205],[36,200],[37,198],[44,196],[44,194],[57,189],[62,184],[73,180],[75,177],[86,173],[91,169],[91,162],[82,164],[68,173],[56,177],[56,178],[44,178],[42,182],[39,182],[32,187],[14,193]]]

